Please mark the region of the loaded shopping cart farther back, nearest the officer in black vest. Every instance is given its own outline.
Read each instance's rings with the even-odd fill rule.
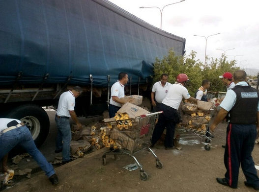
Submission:
[[[208,132],[209,121],[214,113],[214,108],[209,110],[198,110],[196,112],[179,111],[182,122],[177,124],[176,131],[179,133],[176,138],[190,142],[204,144],[205,150],[210,150],[212,140]]]

